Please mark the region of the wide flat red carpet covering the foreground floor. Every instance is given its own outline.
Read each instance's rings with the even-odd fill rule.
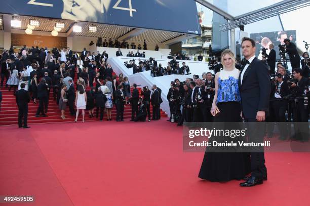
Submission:
[[[309,153],[266,153],[268,181],[252,188],[202,181],[203,153],[184,153],[182,129],[166,119],[8,126],[0,133],[0,194],[34,195],[27,205],[310,202]]]

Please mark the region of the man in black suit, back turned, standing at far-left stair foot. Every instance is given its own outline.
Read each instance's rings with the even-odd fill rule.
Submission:
[[[18,127],[19,128],[30,128],[27,126],[28,118],[28,103],[30,102],[30,95],[27,90],[25,90],[25,83],[20,84],[20,90],[16,92],[16,103],[18,106]],[[23,126],[24,119],[24,126]]]

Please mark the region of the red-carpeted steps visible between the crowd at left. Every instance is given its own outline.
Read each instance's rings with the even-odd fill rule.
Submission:
[[[75,78],[76,79],[76,78]],[[5,83],[4,83],[5,85]],[[87,88],[89,90],[90,88]],[[140,88],[139,94],[140,94]],[[1,89],[3,100],[1,103],[0,110],[0,126],[3,125],[17,125],[18,124],[18,107],[16,104],[15,96],[13,95],[13,90],[9,92],[8,88]],[[36,110],[38,108],[37,104],[34,104],[32,101],[29,103],[29,112],[28,112],[28,123],[53,123],[53,122],[73,122],[75,117],[70,116],[69,107],[67,106],[65,117],[66,119],[61,119],[61,112],[56,104],[56,101],[53,100],[53,91],[50,92],[49,105],[48,105],[48,113],[47,117],[35,117]],[[150,107],[150,112],[152,113],[152,108]],[[94,111],[94,115],[96,115],[96,109]],[[161,117],[167,117],[165,112],[161,110]],[[112,120],[116,118],[116,108],[112,109]],[[131,106],[130,104],[125,105],[124,109],[124,119],[131,118]],[[80,112],[79,121],[82,121],[82,114]],[[85,121],[98,121],[96,117],[90,118],[88,111],[85,111]],[[104,113],[103,120],[106,121],[106,114]]]

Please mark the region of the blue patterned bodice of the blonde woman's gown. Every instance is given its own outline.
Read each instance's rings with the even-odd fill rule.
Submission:
[[[217,91],[217,101],[219,102],[240,102],[240,91],[238,85],[238,79],[229,76],[227,79],[221,79],[218,77],[218,91]]]

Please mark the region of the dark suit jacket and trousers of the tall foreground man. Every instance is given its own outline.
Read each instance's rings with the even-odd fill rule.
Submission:
[[[265,111],[265,113],[269,111],[270,82],[268,73],[267,65],[256,57],[245,70],[242,83],[242,71],[240,72],[241,105],[247,122],[255,122],[258,111]],[[250,123],[247,134],[255,134],[255,136],[249,136],[250,142],[263,142],[264,125]],[[262,179],[267,176],[267,169],[263,147],[259,149],[261,149],[260,152],[251,152],[251,170],[252,176]]]

